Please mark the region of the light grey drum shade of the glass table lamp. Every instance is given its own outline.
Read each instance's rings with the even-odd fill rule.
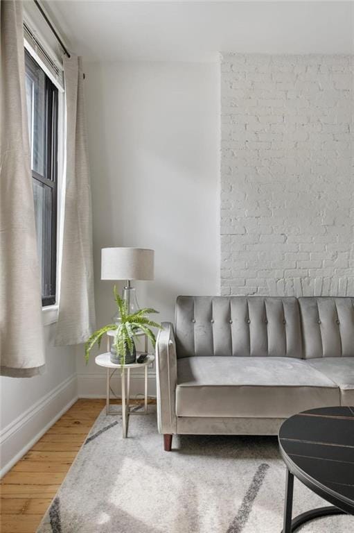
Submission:
[[[146,248],[102,248],[101,280],[153,279],[153,250]]]

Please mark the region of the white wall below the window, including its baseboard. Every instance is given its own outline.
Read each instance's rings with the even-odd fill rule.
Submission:
[[[55,348],[55,325],[44,328],[46,371],[34,378],[0,378],[1,475],[77,398],[75,349]]]

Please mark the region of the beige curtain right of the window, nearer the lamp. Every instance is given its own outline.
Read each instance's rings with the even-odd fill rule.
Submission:
[[[64,58],[67,170],[55,344],[85,342],[95,328],[92,214],[80,58]]]

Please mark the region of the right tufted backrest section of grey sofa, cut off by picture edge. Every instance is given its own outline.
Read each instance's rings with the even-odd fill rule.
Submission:
[[[299,298],[303,357],[354,357],[354,298]]]

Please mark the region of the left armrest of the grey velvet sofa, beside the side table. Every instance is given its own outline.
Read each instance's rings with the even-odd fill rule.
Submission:
[[[170,322],[163,322],[156,342],[157,424],[163,434],[176,433],[175,394],[177,354],[175,335]]]

